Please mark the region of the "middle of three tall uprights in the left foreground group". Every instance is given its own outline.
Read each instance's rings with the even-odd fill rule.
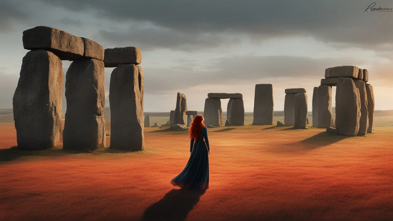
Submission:
[[[105,148],[104,63],[97,59],[73,61],[66,74],[65,95],[63,149]],[[115,134],[111,131],[111,141]]]

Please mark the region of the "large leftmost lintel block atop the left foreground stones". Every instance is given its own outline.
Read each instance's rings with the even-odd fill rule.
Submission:
[[[56,28],[37,26],[23,31],[22,39],[24,49],[45,49],[61,60],[74,61],[84,54],[84,42],[80,37]]]

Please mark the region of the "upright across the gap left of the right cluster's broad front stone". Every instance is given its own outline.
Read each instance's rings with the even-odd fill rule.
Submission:
[[[333,125],[332,87],[320,85],[318,87],[318,128],[327,128]]]

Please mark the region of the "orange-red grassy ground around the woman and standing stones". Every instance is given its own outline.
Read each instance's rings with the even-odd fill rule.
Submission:
[[[393,219],[392,127],[353,138],[314,128],[208,129],[205,193],[169,183],[188,160],[187,132],[156,130],[145,129],[138,153],[32,153],[7,149],[15,128],[0,123],[0,220]]]

